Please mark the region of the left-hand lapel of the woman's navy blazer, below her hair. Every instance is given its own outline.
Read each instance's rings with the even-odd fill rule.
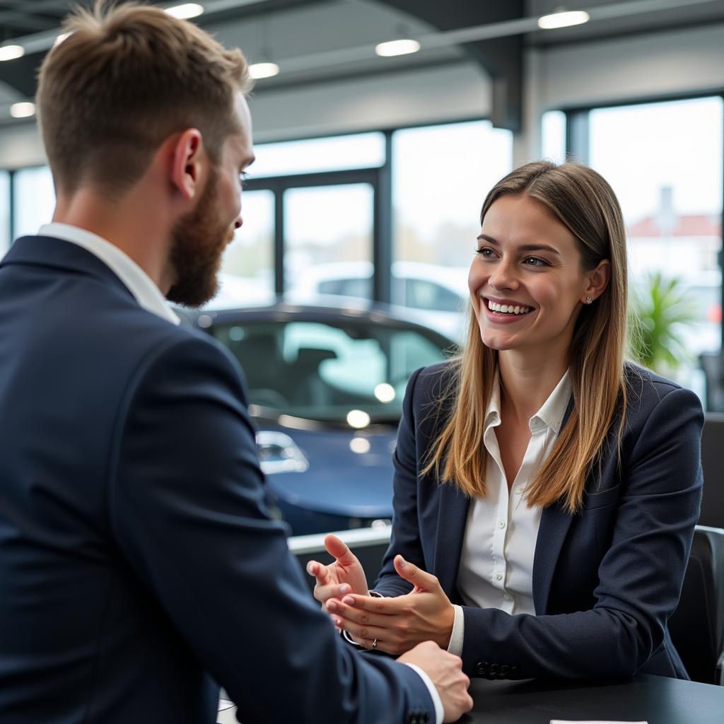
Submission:
[[[457,600],[458,568],[470,499],[452,484],[439,484],[438,489],[440,504],[437,512],[433,572],[447,597]]]

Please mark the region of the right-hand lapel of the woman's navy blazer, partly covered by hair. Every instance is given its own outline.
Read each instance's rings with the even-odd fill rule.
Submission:
[[[558,434],[563,431],[572,410],[573,395],[568,402],[568,408],[566,408]],[[573,515],[563,510],[560,503],[544,508],[541,514],[533,559],[533,603],[536,615],[542,615],[547,611],[555,564],[572,522]]]

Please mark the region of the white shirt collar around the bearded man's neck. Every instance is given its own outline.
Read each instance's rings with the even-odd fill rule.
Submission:
[[[166,319],[172,324],[179,324],[179,318],[169,306],[161,290],[152,281],[151,277],[135,263],[127,254],[122,252],[116,245],[111,244],[104,238],[93,234],[86,229],[72,226],[71,224],[44,224],[38,231],[38,235],[51,236],[64,241],[70,241],[90,251],[93,256],[98,257],[116,276],[128,287],[138,304],[161,319]]]

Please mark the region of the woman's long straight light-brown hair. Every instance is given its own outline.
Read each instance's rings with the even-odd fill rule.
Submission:
[[[605,291],[594,303],[584,305],[576,320],[570,349],[573,411],[526,492],[529,506],[545,507],[560,500],[569,513],[575,513],[581,508],[586,476],[598,459],[618,411],[619,439],[624,424],[626,230],[610,185],[581,164],[556,166],[535,161],[515,169],[487,195],[481,224],[494,201],[509,194],[526,195],[545,206],[576,237],[586,271],[595,269],[602,259],[611,264]],[[472,308],[468,327],[466,346],[452,362],[454,374],[444,395],[454,395],[456,403],[430,449],[422,473],[434,472],[465,494],[484,497],[489,455],[483,434],[497,351],[483,344]]]

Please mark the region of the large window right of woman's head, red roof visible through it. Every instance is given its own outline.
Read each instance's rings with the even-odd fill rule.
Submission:
[[[658,272],[691,303],[694,323],[675,331],[690,355],[679,374],[695,388],[695,355],[721,345],[722,125],[721,98],[590,114],[590,163],[621,203],[633,292],[650,295]]]

